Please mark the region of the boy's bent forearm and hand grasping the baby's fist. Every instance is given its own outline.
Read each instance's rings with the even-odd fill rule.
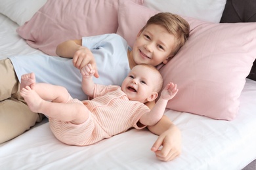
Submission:
[[[58,44],[56,54],[63,58],[73,58],[73,65],[77,69],[85,67],[88,63],[95,69],[95,77],[98,78],[95,58],[89,48],[82,46],[82,40],[68,40]]]

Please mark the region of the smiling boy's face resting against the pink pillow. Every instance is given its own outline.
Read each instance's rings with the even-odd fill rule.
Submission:
[[[171,50],[175,44],[175,37],[160,25],[148,25],[137,35],[133,45],[133,60],[135,63],[159,65],[167,63]]]

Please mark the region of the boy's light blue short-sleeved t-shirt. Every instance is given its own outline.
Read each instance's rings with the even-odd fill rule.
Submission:
[[[121,85],[130,71],[127,42],[117,34],[83,37],[82,45],[91,50],[96,60],[99,78],[97,84]],[[81,89],[81,74],[72,59],[32,54],[9,57],[20,80],[26,73],[35,73],[36,82],[64,86],[72,97],[84,100],[87,95]]]

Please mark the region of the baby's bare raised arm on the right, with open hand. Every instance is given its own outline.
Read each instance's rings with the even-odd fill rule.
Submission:
[[[158,99],[152,110],[140,117],[140,123],[146,126],[153,126],[156,124],[163,116],[167,102],[172,99],[177,92],[177,84],[173,84],[172,82],[167,84],[161,92],[160,99]]]

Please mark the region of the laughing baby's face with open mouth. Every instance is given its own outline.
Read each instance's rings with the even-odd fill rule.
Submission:
[[[129,72],[121,85],[121,90],[127,94],[127,97],[133,101],[154,101],[158,97],[156,90],[157,75],[152,69],[137,65]]]

